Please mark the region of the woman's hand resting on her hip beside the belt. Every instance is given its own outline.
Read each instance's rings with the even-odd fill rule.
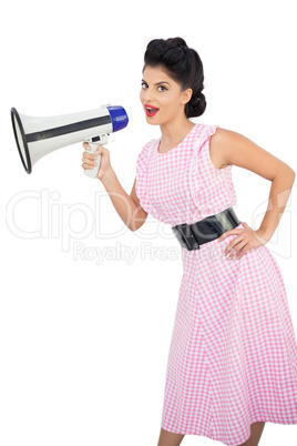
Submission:
[[[239,221],[240,222],[240,221]],[[265,237],[263,231],[257,230],[254,231],[247,223],[240,222],[245,229],[237,227],[235,230],[228,230],[224,232],[217,240],[222,242],[228,235],[237,234],[238,236],[235,237],[228,246],[225,249],[225,255],[228,255],[231,250],[233,249],[232,254],[227,257],[228,260],[234,259],[238,251],[240,253],[235,257],[235,260],[239,260],[243,255],[253,247],[265,245],[269,240]]]

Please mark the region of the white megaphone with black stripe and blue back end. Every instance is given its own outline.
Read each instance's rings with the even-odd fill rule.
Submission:
[[[107,134],[124,129],[129,123],[123,107],[102,105],[95,110],[60,116],[27,116],[11,109],[11,120],[22,164],[27,173],[42,156],[57,149],[88,142],[90,153],[95,153],[99,145],[107,143]],[[100,169],[101,154],[98,165],[84,171],[85,175],[95,179]]]

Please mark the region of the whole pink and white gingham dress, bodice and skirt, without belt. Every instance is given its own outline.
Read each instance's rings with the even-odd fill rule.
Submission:
[[[136,194],[148,214],[174,226],[236,205],[232,165],[209,158],[217,126],[196,124],[166,153],[160,139],[142,149]],[[255,422],[297,424],[297,345],[281,272],[265,245],[225,257],[236,236],[196,251],[176,240],[183,276],[162,415],[166,430],[228,446],[245,443]]]

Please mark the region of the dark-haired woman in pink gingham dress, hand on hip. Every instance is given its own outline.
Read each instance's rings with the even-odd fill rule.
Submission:
[[[98,178],[131,231],[150,213],[182,244],[158,446],[177,446],[186,434],[255,446],[265,422],[297,424],[296,338],[281,272],[265,246],[295,171],[236,132],[190,120],[206,108],[204,72],[183,39],[151,41],[144,62],[140,99],[162,136],[140,152],[130,195],[103,146]],[[95,160],[84,152],[83,169]],[[234,213],[232,165],[272,181],[256,231]]]

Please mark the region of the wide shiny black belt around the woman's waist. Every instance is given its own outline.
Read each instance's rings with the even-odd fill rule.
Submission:
[[[219,235],[228,230],[240,224],[233,207],[225,209],[215,215],[209,215],[206,219],[193,224],[177,224],[172,230],[176,239],[187,251],[199,250],[199,246],[212,240],[218,239]]]

